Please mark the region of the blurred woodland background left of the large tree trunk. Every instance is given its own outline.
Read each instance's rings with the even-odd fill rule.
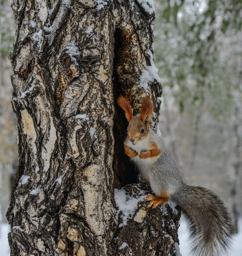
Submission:
[[[11,180],[18,164],[17,121],[12,111],[11,63],[8,55],[14,39],[11,1],[0,0],[0,222],[10,202]]]

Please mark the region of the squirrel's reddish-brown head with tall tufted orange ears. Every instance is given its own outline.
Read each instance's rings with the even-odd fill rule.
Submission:
[[[150,135],[150,119],[154,109],[151,97],[143,98],[140,114],[133,116],[132,107],[126,97],[120,96],[118,105],[124,110],[128,120],[127,135],[132,144],[148,139]]]

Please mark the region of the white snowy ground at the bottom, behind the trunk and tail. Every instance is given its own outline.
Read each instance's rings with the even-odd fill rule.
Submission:
[[[8,245],[8,232],[10,226],[8,224],[0,224],[0,256],[10,256],[10,249]],[[182,256],[189,256],[187,247],[188,229],[187,222],[181,218],[180,228],[178,229],[180,239],[180,253]],[[242,220],[239,221],[239,233],[235,237],[234,248],[229,253],[229,256],[242,256]]]

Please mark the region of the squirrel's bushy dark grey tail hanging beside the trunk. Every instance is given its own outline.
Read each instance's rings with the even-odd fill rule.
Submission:
[[[224,256],[235,233],[228,209],[211,190],[184,185],[174,199],[189,220],[191,253],[196,256]]]

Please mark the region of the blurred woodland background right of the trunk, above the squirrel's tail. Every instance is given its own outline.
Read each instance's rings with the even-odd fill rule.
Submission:
[[[239,217],[242,2],[157,0],[155,6],[162,132],[185,180],[217,191]]]

